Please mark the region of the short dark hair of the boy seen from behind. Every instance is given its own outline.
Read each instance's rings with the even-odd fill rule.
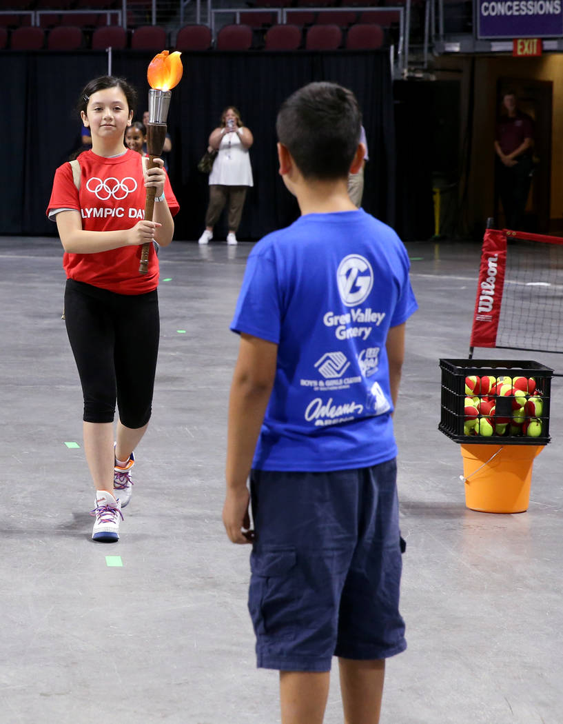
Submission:
[[[362,114],[351,90],[309,83],[279,109],[276,132],[305,178],[347,177],[360,141]]]

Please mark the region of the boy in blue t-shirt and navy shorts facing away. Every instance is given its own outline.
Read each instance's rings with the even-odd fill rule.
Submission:
[[[405,247],[347,193],[360,125],[334,83],[282,105],[279,173],[301,216],[253,248],[231,325],[223,521],[253,543],[248,606],[282,724],[322,723],[334,655],[346,724],[377,724],[384,660],[407,645],[391,414],[417,305]]]

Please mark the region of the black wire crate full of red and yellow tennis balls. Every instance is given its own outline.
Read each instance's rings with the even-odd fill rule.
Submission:
[[[547,445],[550,441],[549,403],[553,370],[549,367],[531,361],[441,359],[440,369],[438,429],[454,442],[464,445]],[[466,394],[465,380],[468,377],[479,380],[475,394]],[[507,377],[510,382],[504,380]],[[492,378],[496,380],[495,384]],[[518,378],[527,379],[528,385]],[[530,378],[533,378],[535,389]],[[504,384],[499,384],[499,380],[504,380]],[[473,381],[470,383],[473,384]],[[513,384],[523,389],[517,390]],[[499,394],[501,388],[503,394]],[[467,407],[469,415],[465,409],[467,397],[474,403],[473,408]],[[533,432],[533,436],[528,432]]]

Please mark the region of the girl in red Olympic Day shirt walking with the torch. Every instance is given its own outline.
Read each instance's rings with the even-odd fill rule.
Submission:
[[[96,487],[92,538],[98,541],[119,539],[133,450],[151,417],[159,337],[153,242],[172,242],[179,209],[161,159],[147,171],[142,156],[124,146],[136,100],[122,78],[102,76],[85,86],[78,109],[92,149],[74,167],[56,169],[47,209],[64,248],[65,318],[84,396],[84,449]],[[153,221],[145,221],[145,188],[151,186],[158,203]],[[147,242],[148,274],[140,274]]]

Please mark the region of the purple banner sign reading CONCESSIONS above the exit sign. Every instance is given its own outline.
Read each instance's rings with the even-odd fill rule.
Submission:
[[[562,0],[479,0],[478,38],[558,38]]]

